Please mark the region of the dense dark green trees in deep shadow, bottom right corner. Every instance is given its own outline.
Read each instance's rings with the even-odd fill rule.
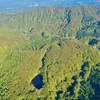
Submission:
[[[81,89],[79,91],[79,100],[99,100],[100,99],[100,68],[98,64],[91,68],[91,73],[87,81],[81,82]]]

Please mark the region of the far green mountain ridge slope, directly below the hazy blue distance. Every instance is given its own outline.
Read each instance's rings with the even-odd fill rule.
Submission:
[[[0,30],[23,33],[30,39],[52,34],[77,38],[87,44],[96,39],[96,47],[100,48],[100,7],[46,7],[17,15],[0,16]]]

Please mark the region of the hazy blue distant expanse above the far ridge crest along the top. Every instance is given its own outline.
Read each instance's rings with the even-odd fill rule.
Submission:
[[[0,12],[18,13],[45,6],[100,6],[100,0],[0,0]]]

